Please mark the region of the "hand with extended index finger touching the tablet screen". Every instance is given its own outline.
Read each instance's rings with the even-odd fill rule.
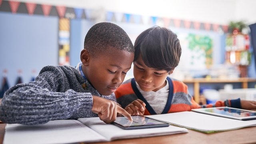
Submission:
[[[92,99],[92,112],[98,114],[100,120],[104,121],[106,124],[114,122],[117,113],[122,114],[128,118],[128,120],[132,121],[132,116],[122,107],[118,106],[116,102],[98,96],[92,96]]]

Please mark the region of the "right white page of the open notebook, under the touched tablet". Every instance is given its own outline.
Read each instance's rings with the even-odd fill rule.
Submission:
[[[177,126],[124,130],[113,124],[105,124],[98,117],[79,118],[78,120],[96,132],[100,133],[102,136],[106,137],[109,141],[124,138],[142,138],[188,132],[186,128],[180,128]]]

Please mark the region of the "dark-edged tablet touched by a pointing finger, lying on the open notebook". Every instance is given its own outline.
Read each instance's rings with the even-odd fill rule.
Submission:
[[[166,127],[170,124],[148,118],[145,116],[132,116],[133,121],[128,120],[126,117],[117,117],[112,124],[119,126],[125,130],[140,129],[140,128],[158,128]]]

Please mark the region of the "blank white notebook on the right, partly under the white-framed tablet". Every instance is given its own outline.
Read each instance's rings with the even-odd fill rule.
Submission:
[[[175,126],[180,126],[204,133],[222,132],[256,126],[256,122],[253,121],[234,120],[230,118],[223,118],[219,116],[188,111],[158,114],[147,117],[162,120]]]

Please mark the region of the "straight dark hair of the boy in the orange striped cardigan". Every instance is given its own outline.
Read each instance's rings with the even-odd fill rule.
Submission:
[[[168,28],[153,26],[142,32],[134,43],[134,61],[140,54],[146,66],[170,72],[178,66],[180,41]]]

